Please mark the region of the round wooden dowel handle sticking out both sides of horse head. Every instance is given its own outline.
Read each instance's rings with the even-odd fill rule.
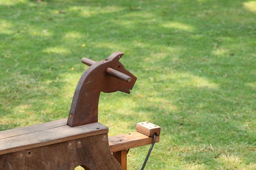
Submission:
[[[94,62],[93,60],[90,60],[89,58],[83,57],[82,58],[82,63],[85,64],[85,65],[91,66],[92,64],[94,64],[96,62]],[[106,69],[106,74],[110,75],[112,77],[116,77],[118,79],[124,80],[126,82],[132,81],[132,78],[130,76],[128,76],[124,73],[121,73],[120,71],[117,71],[117,70],[115,70],[113,68],[110,68],[110,67],[108,67]]]

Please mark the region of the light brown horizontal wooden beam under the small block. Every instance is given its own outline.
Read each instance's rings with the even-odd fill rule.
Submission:
[[[115,135],[108,138],[108,144],[111,152],[117,152],[125,149],[136,148],[152,144],[153,137],[149,137],[140,132],[130,132],[122,135]],[[159,142],[159,135],[155,142]]]

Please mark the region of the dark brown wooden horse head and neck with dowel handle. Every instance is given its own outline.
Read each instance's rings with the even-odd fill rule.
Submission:
[[[90,66],[80,77],[72,100],[67,124],[71,127],[98,121],[98,104],[101,92],[130,93],[137,77],[127,71],[119,59],[122,52],[112,53],[106,60],[94,62],[83,58]]]

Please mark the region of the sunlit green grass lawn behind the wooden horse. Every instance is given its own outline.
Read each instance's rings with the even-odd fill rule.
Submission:
[[[115,51],[138,79],[99,121],[162,127],[145,170],[256,169],[255,0],[0,0],[0,130],[67,117],[81,58]]]

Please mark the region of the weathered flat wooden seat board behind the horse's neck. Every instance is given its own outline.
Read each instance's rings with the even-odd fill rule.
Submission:
[[[108,132],[108,127],[99,122],[70,127],[67,125],[67,119],[59,121],[56,126],[53,121],[45,123],[46,126],[38,124],[6,130],[9,134],[0,131],[0,155]]]

